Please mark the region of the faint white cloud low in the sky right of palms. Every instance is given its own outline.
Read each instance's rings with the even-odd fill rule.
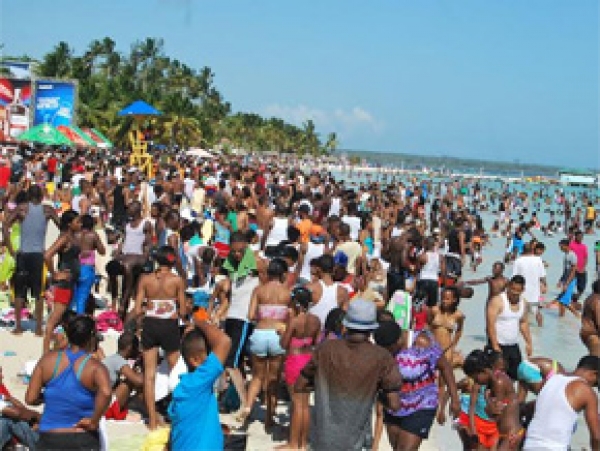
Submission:
[[[382,122],[359,106],[349,110],[336,108],[327,111],[306,105],[271,104],[264,108],[263,114],[267,117],[279,117],[296,125],[302,125],[307,120],[312,119],[319,130],[336,131],[344,134],[351,133],[359,128],[362,130],[368,129],[372,132],[379,132],[383,129]]]

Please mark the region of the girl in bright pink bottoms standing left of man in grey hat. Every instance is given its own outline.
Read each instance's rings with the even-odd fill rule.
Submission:
[[[321,335],[321,322],[312,313],[308,313],[311,294],[306,288],[292,291],[294,317],[288,316],[287,327],[281,336],[281,347],[287,350],[283,374],[288,391],[292,397],[290,436],[286,444],[277,449],[306,449],[310,423],[310,393],[294,390],[300,372],[312,357],[313,347]]]

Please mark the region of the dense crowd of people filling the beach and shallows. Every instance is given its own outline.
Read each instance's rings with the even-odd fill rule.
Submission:
[[[3,151],[0,285],[13,334],[33,306],[41,358],[24,401],[43,407],[0,384],[1,446],[101,449],[102,418],[135,410],[169,449],[223,449],[220,412],[243,427],[264,405],[271,431],[289,398],[281,449],[378,449],[384,426],[394,450],[418,449],[448,415],[464,449],[567,449],[581,412],[599,449],[600,246],[583,242],[600,228],[597,193],[345,181],[289,157],[154,162]],[[555,234],[564,269],[546,299]],[[500,237],[504,258],[474,278]],[[479,284],[487,343],[464,355],[477,319],[459,306]],[[553,306],[581,317],[587,355],[534,352],[530,328]],[[107,328],[120,334],[109,356]]]

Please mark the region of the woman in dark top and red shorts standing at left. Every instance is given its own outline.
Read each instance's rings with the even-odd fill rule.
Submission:
[[[48,352],[54,328],[60,323],[65,310],[73,298],[75,283],[79,280],[79,239],[81,218],[75,210],[68,210],[60,218],[61,234],[44,255],[44,263],[52,278],[52,294],[54,303],[46,324],[43,351]],[[54,257],[58,255],[58,266],[54,265]],[[56,269],[55,269],[56,268]]]

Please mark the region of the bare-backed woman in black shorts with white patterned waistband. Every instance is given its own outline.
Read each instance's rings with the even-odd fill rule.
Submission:
[[[177,261],[175,249],[170,246],[159,248],[155,260],[158,269],[140,278],[134,310],[142,326],[144,399],[150,430],[158,425],[154,403],[158,348],[165,351],[169,368],[173,369],[179,359],[179,321],[183,321],[186,314],[185,281],[173,273]]]

